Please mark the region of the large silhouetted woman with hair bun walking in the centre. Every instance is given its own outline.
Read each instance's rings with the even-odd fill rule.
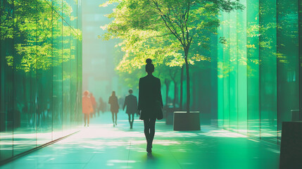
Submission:
[[[163,108],[163,99],[161,97],[161,80],[154,77],[154,65],[150,58],[146,59],[146,75],[139,79],[139,105],[138,110],[140,119],[144,120],[144,133],[147,141],[146,151],[152,152],[152,142],[155,134],[155,122],[158,118],[156,106]],[[160,104],[160,105],[158,105]]]

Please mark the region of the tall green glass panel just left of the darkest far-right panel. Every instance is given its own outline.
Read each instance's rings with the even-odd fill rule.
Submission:
[[[277,142],[276,1],[260,1],[260,137]]]

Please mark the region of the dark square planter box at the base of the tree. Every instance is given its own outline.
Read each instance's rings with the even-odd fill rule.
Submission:
[[[199,111],[175,111],[173,128],[176,131],[201,130]]]

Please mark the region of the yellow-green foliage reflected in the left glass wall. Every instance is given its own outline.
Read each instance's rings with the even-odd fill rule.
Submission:
[[[6,56],[8,65],[18,70],[47,70],[64,61],[68,61],[70,49],[56,49],[53,39],[62,36],[71,36],[82,40],[80,30],[70,30],[62,25],[62,18],[56,14],[59,6],[51,6],[44,0],[7,1],[1,4],[0,40],[14,39],[14,56]],[[63,1],[63,15],[70,15],[73,8]],[[75,20],[76,18],[71,18]],[[55,29],[61,27],[60,30]],[[63,41],[69,44],[69,41]],[[73,46],[71,46],[73,48]],[[63,59],[53,59],[63,53]],[[72,56],[74,57],[74,56]],[[14,61],[14,62],[13,62]]]

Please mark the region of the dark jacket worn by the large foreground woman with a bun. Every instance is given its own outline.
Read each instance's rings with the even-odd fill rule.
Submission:
[[[153,75],[146,75],[139,79],[139,106],[141,110],[141,120],[158,118],[158,114],[154,111],[156,101],[159,101],[163,107],[163,99],[161,97],[161,80]]]

